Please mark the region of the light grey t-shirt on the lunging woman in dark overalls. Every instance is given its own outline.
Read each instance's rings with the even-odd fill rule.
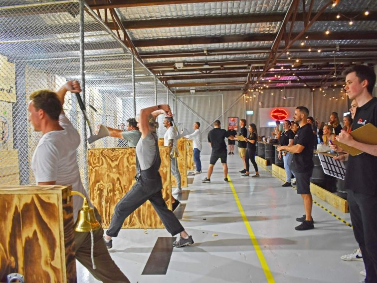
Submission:
[[[139,160],[141,170],[151,168],[156,157],[156,133],[149,133],[144,139],[141,138],[136,145],[136,155]]]

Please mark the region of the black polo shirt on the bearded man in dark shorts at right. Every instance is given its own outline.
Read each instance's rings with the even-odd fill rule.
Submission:
[[[312,125],[305,124],[300,127],[293,140],[293,144],[300,144],[304,147],[303,151],[293,155],[292,170],[297,173],[304,173],[312,170],[313,163],[313,130]]]

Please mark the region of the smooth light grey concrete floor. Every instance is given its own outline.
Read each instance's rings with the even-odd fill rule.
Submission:
[[[209,156],[201,160],[206,172]],[[313,204],[315,229],[296,231],[295,218],[304,214],[296,190],[282,188],[283,182],[263,169],[258,179],[240,177],[240,164],[237,155],[228,156],[231,183],[223,182],[218,162],[210,184],[201,183],[202,173],[186,188],[181,221],[195,244],[173,249],[166,275],[142,275],[158,237],[171,237],[165,229],[120,232],[110,254],[132,283],[357,283],[364,279],[359,274],[363,262],[340,259],[357,247],[350,227]],[[351,222],[349,214],[314,199]],[[98,282],[79,263],[77,275],[79,283]]]

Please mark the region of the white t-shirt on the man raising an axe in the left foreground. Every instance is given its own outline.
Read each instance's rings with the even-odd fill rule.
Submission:
[[[45,133],[34,151],[31,169],[34,172],[35,182],[56,181],[56,185],[72,185],[72,191],[82,193],[92,206],[81,183],[76,161],[80,135],[63,114],[59,116],[59,124],[64,130]],[[73,196],[74,222],[82,203],[83,199],[80,196]]]

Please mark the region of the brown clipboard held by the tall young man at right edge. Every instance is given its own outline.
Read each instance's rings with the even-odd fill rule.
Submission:
[[[354,140],[358,142],[377,145],[377,128],[372,123],[368,123],[350,132],[350,135],[354,138]],[[344,151],[351,154],[352,156],[356,156],[364,152],[360,149],[346,145],[337,140],[334,140],[333,143],[343,148]]]

